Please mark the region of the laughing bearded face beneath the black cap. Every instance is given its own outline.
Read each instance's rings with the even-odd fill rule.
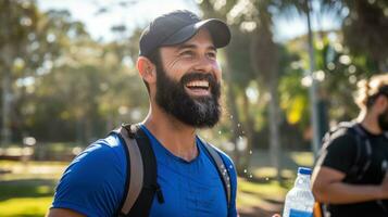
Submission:
[[[221,69],[206,30],[183,44],[161,48],[157,103],[192,127],[212,127],[221,116]]]

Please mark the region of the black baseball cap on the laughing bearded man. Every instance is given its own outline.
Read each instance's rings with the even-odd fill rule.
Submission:
[[[139,55],[149,56],[157,48],[185,42],[201,28],[209,30],[215,48],[223,48],[230,41],[229,27],[223,21],[201,21],[190,11],[178,10],[157,17],[142,31]]]

